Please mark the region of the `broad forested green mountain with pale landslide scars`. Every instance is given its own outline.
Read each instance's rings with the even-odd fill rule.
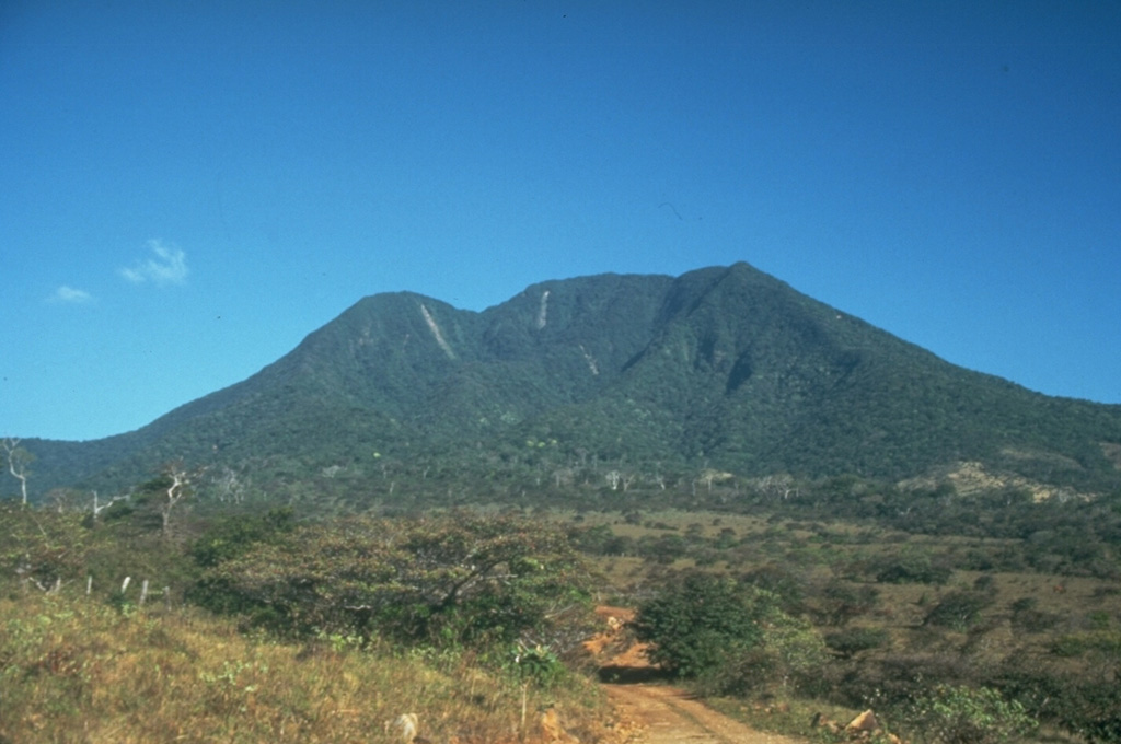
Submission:
[[[27,444],[40,489],[183,459],[359,490],[393,468],[559,484],[589,462],[892,480],[975,462],[1097,487],[1119,445],[1119,406],[954,366],[747,263],[546,281],[482,313],[367,297],[142,429]]]

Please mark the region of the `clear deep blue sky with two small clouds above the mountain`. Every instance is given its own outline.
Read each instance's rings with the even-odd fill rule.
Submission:
[[[1121,402],[1121,4],[0,2],[0,435],[89,439],[363,296],[748,261]]]

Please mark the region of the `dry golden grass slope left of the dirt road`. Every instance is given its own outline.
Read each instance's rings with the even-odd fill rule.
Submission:
[[[602,699],[578,679],[531,690],[599,737]],[[247,638],[191,611],[119,612],[82,598],[0,599],[0,742],[378,742],[416,713],[433,742],[516,741],[521,688],[470,657]]]

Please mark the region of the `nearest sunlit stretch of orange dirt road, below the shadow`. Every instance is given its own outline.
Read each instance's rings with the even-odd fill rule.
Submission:
[[[765,734],[663,685],[604,685],[620,717],[640,728],[642,744],[805,744]]]

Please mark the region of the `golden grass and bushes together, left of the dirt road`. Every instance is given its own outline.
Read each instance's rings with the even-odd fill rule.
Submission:
[[[584,741],[605,736],[567,641],[587,606],[578,559],[549,529],[466,514],[297,527],[272,512],[173,540],[136,514],[83,524],[19,506],[0,523],[13,538],[2,742],[399,741],[387,724],[408,713],[432,741],[534,741],[547,708]],[[343,555],[348,538],[361,539]],[[387,558],[389,574],[358,570]]]

